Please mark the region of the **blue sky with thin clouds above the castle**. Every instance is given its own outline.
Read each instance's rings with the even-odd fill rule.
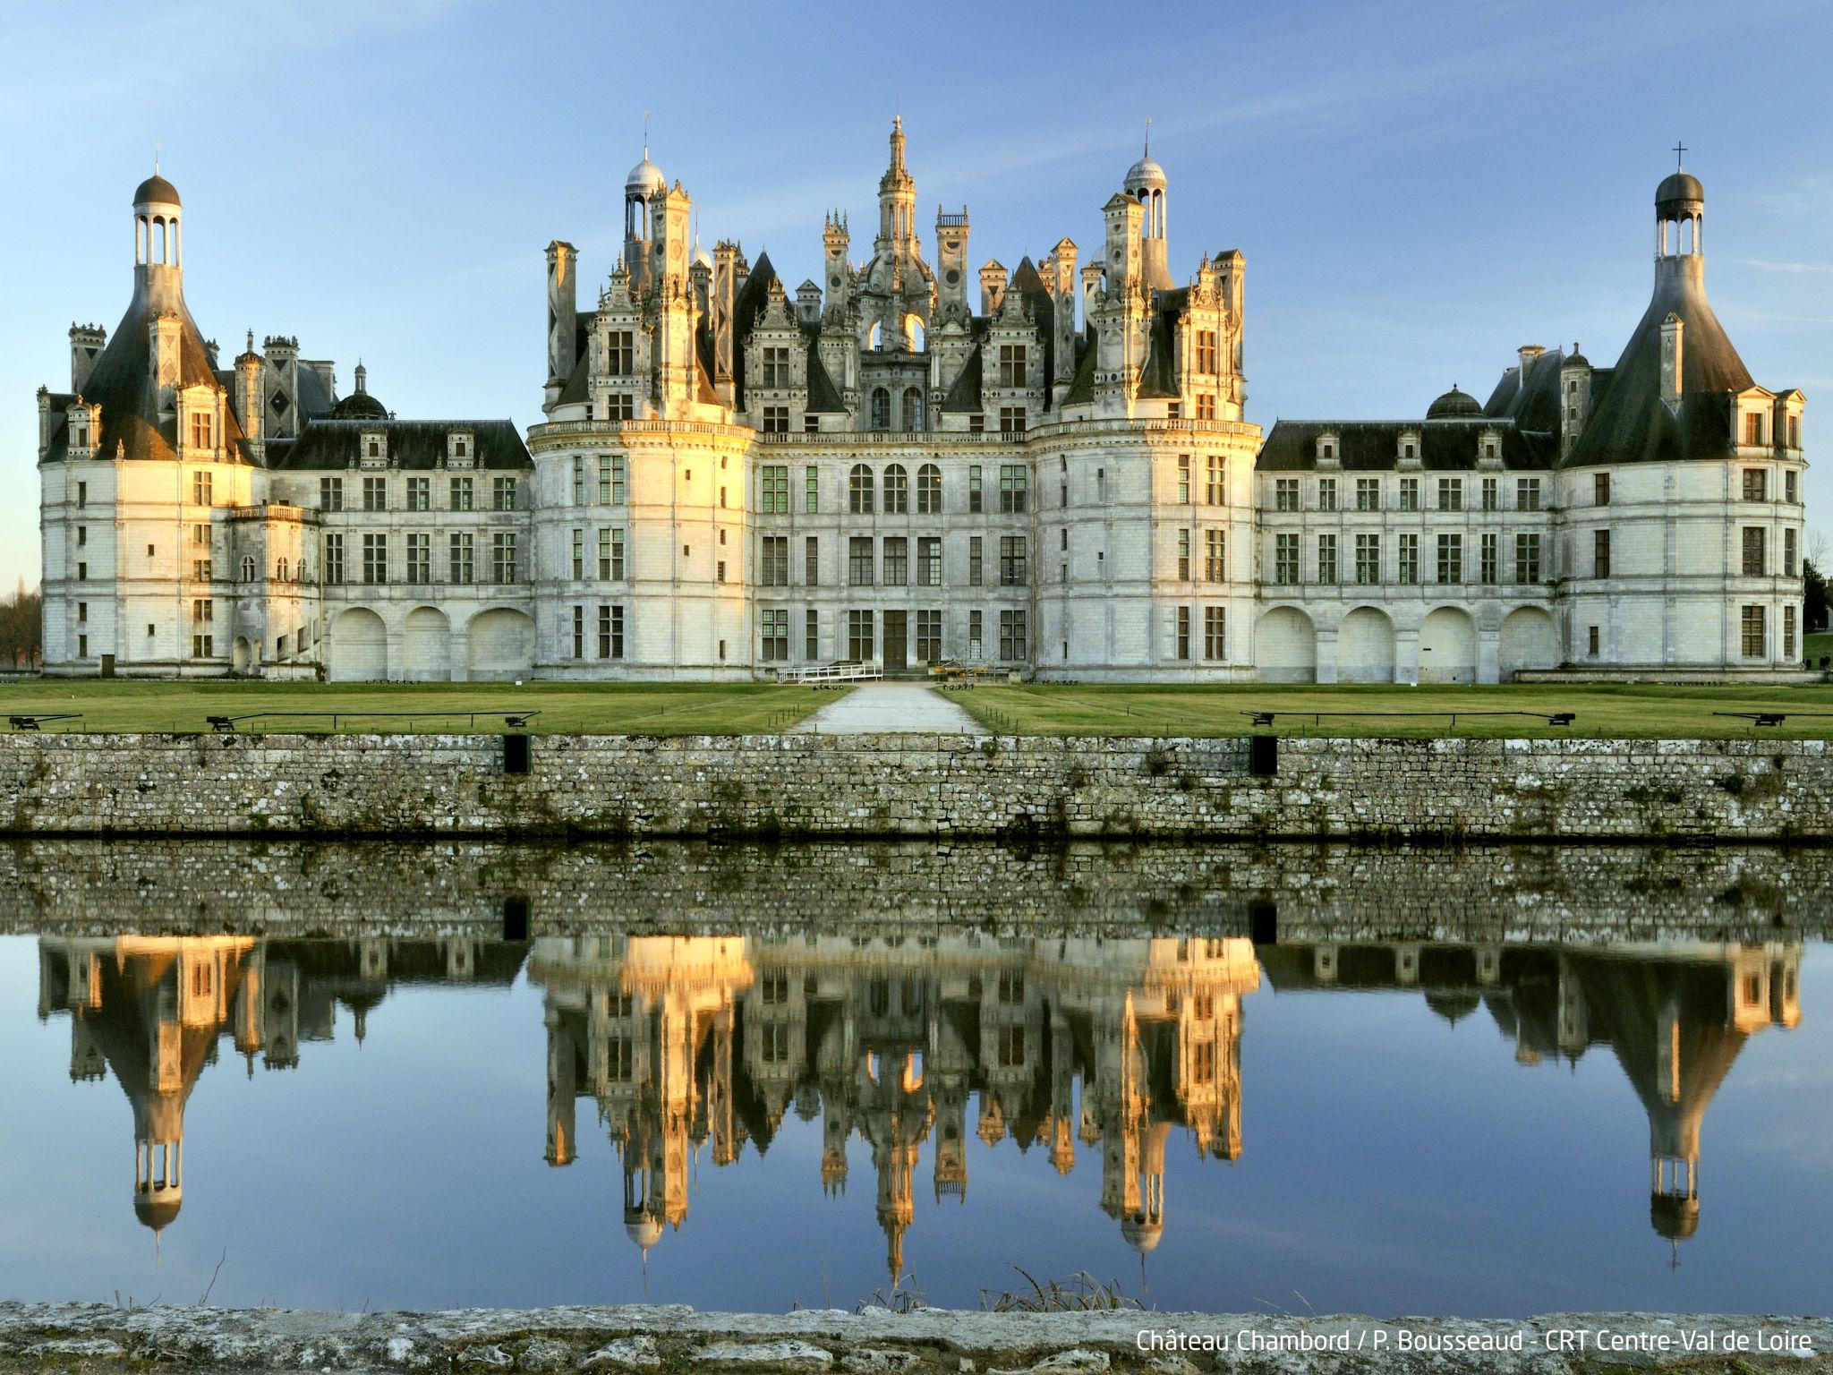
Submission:
[[[594,282],[651,152],[702,236],[790,282],[821,214],[871,253],[893,112],[918,226],[968,204],[971,262],[1069,235],[1138,156],[1171,180],[1171,270],[1246,253],[1248,418],[1413,416],[1485,396],[1521,343],[1604,363],[1652,277],[1683,139],[1712,299],[1756,380],[1833,396],[1833,7],[1729,4],[9,6],[0,51],[0,585],[38,576],[40,383],[130,293],[152,143],[185,198],[187,299],[361,358],[403,416],[539,420],[543,248]],[[927,235],[926,235],[927,244]],[[588,293],[583,293],[588,295]],[[1833,534],[1833,486],[1807,482]]]

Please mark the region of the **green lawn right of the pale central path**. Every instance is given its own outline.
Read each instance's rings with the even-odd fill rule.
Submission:
[[[1314,688],[1314,686],[1094,686],[1026,684],[949,693],[981,724],[1003,735],[1248,735],[1263,732],[1248,711],[1534,711],[1540,719],[1446,715],[1278,717],[1279,735],[1631,735],[1747,737],[1752,722],[1716,711],[1784,711],[1762,733],[1833,739],[1833,686],[1826,688]],[[1573,711],[1571,726],[1545,715]],[[1807,713],[1820,713],[1818,717]]]

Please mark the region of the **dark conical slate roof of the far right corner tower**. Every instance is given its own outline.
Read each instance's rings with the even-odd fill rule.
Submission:
[[[1670,314],[1685,324],[1679,414],[1661,400],[1661,324]],[[1655,293],[1602,390],[1598,376],[1584,434],[1564,468],[1727,458],[1736,442],[1730,394],[1756,385],[1707,302],[1697,257],[1655,264]]]

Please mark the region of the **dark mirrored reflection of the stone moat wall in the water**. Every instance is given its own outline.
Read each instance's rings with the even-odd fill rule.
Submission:
[[[0,933],[788,930],[1285,940],[1725,940],[1833,931],[1833,849],[1069,842],[0,843]]]

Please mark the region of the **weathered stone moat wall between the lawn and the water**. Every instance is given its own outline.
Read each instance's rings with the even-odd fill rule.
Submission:
[[[11,834],[1833,840],[1826,741],[5,735]]]

